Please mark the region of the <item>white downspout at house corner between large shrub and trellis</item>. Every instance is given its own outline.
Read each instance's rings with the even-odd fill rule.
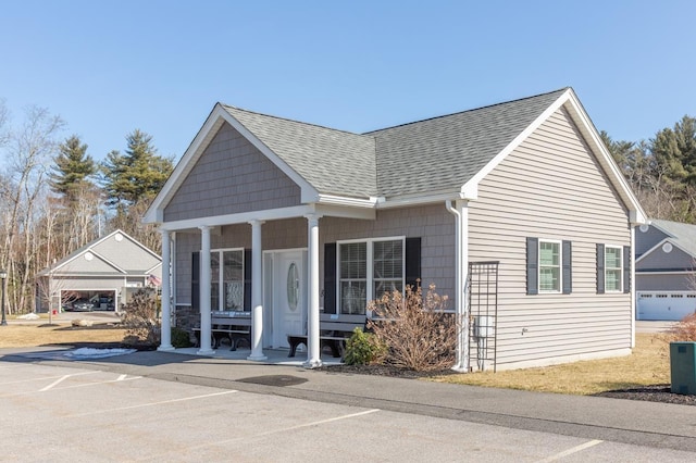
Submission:
[[[457,295],[455,309],[459,330],[457,334],[457,360],[452,370],[469,373],[469,316],[467,314],[469,295],[464,281],[467,275],[464,265],[469,265],[469,262],[464,262],[464,246],[468,247],[468,242],[463,242],[464,234],[468,235],[469,214],[465,214],[464,217],[463,210],[460,210],[459,205],[455,208],[451,200],[445,202],[445,208],[455,216],[455,293]],[[467,221],[467,229],[464,229],[464,221]]]

